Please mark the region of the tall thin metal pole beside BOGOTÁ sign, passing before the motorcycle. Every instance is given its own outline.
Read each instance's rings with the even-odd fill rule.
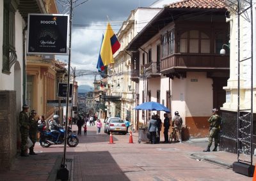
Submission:
[[[66,109],[66,115],[68,115],[69,81],[70,81],[71,35],[72,35],[72,5],[73,5],[73,0],[70,1],[69,49],[68,49],[68,83],[67,83],[68,87],[67,87],[67,109]],[[67,121],[65,123],[65,130],[66,131],[65,131],[65,141],[64,141],[63,167],[66,167]]]

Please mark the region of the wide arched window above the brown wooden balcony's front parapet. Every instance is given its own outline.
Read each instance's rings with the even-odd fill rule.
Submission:
[[[179,51],[180,53],[209,54],[210,38],[197,30],[186,31],[180,36]]]

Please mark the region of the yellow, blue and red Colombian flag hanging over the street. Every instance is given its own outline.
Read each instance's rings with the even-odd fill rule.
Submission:
[[[120,43],[108,23],[102,44],[100,47],[100,55],[97,63],[97,69],[103,71],[104,66],[114,63],[113,54],[120,48]]]

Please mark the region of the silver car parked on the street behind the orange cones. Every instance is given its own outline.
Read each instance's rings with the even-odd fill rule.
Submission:
[[[126,134],[126,126],[124,120],[119,117],[110,117],[104,125],[104,133],[122,133]]]

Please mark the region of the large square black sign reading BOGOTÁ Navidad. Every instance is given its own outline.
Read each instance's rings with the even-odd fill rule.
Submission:
[[[68,54],[68,15],[29,14],[28,54]]]

